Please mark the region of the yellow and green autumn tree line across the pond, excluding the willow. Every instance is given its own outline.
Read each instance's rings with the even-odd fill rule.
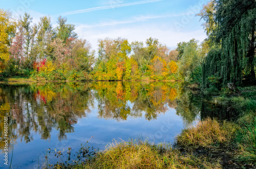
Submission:
[[[51,18],[47,16],[33,24],[28,13],[13,18],[11,12],[1,9],[0,14],[2,79],[12,76],[70,81],[178,80],[186,76],[193,79],[192,69],[199,63],[200,46],[194,39],[180,44],[182,49],[170,50],[152,37],[145,43],[105,38],[98,40],[96,52],[87,40],[78,38],[75,25],[68,24],[66,17],[59,16],[58,25],[53,27]],[[191,47],[193,51],[186,49]],[[189,55],[189,52],[195,55],[187,61],[182,54]],[[184,62],[189,62],[191,68],[182,68]]]

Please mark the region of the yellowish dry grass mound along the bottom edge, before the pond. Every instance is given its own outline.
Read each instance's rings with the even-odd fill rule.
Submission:
[[[182,155],[168,145],[143,142],[114,143],[87,164],[75,168],[221,168],[206,158]]]

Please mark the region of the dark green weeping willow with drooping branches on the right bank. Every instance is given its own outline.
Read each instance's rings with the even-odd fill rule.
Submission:
[[[214,6],[212,10],[207,10]],[[203,86],[255,80],[255,0],[215,0],[199,14],[211,48],[202,66]],[[214,27],[215,26],[215,27]]]

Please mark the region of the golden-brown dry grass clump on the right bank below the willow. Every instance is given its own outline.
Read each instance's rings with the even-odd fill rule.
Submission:
[[[234,123],[206,119],[196,126],[182,131],[177,137],[177,145],[184,148],[212,147],[218,144],[227,145],[232,142],[236,133]]]

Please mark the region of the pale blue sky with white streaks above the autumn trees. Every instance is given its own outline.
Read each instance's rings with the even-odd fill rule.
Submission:
[[[143,41],[153,37],[170,49],[177,43],[206,38],[200,17],[195,16],[208,0],[12,0],[1,1],[0,8],[14,15],[25,12],[37,23],[42,16],[50,16],[56,26],[59,15],[75,24],[79,38],[87,39],[97,50],[97,40],[126,38]]]

